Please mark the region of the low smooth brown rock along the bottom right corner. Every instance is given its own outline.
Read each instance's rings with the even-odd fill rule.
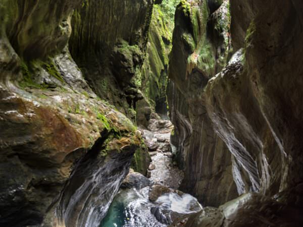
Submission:
[[[301,226],[302,216],[298,210],[258,194],[243,196],[223,204],[219,208],[205,207],[200,212],[185,216],[186,227],[239,227],[239,226]],[[180,226],[180,219],[171,227]]]

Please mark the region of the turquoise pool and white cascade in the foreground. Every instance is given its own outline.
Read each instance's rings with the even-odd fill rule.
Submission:
[[[165,227],[169,224],[167,219],[170,219],[170,212],[186,214],[201,210],[197,200],[188,194],[179,196],[169,193],[159,197],[156,202],[150,202],[148,190],[149,187],[121,189],[100,227]]]

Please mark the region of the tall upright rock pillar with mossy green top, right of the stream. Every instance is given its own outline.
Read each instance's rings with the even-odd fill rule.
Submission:
[[[170,56],[168,101],[175,126],[172,144],[185,174],[180,190],[211,206],[237,196],[231,154],[213,129],[204,92],[209,79],[227,61],[229,24],[228,1],[219,6],[181,1]]]

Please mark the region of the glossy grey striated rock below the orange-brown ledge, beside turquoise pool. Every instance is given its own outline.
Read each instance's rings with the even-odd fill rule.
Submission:
[[[108,143],[105,143],[109,140]],[[128,174],[138,145],[105,135],[77,163],[61,193],[56,226],[97,226]],[[101,150],[101,152],[100,152]]]

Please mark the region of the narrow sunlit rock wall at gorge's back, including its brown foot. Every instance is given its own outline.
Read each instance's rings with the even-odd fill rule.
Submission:
[[[137,102],[137,124],[147,128],[151,112],[167,118],[167,71],[172,48],[174,14],[178,0],[164,0],[154,5],[148,31],[146,56],[141,70],[143,99]]]

